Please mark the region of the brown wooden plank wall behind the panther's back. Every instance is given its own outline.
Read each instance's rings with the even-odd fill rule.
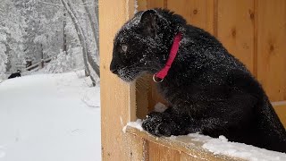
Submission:
[[[285,0],[139,0],[139,10],[163,7],[212,33],[247,65],[286,125]],[[150,85],[149,106],[158,96]]]

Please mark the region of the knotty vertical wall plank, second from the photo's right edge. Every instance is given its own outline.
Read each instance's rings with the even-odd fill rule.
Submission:
[[[254,71],[254,0],[218,0],[217,38]]]

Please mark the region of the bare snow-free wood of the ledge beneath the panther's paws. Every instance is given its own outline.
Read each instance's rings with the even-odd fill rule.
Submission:
[[[189,156],[191,160],[243,160],[241,158],[229,157],[224,155],[214,155],[206,148],[202,148],[203,142],[192,140],[189,136],[177,137],[155,137],[147,133],[147,131],[140,131],[137,128],[127,126],[126,132],[139,137],[140,139],[151,141],[166,148],[178,151],[180,154],[184,153]],[[148,149],[144,149],[148,150]],[[152,149],[151,149],[152,150]],[[187,157],[185,157],[187,158]],[[181,159],[180,159],[181,160]]]

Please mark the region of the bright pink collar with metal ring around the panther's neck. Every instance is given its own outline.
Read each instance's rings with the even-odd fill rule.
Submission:
[[[172,42],[172,48],[171,48],[171,51],[170,51],[170,55],[169,55],[169,58],[167,60],[167,63],[164,65],[164,68],[159,71],[159,72],[156,72],[154,75],[153,75],[153,80],[155,82],[162,82],[164,80],[164,77],[168,74],[171,66],[172,66],[172,62],[173,60],[175,59],[177,53],[178,53],[178,50],[179,50],[179,46],[180,46],[180,41],[181,41],[181,32],[179,32],[173,42]]]

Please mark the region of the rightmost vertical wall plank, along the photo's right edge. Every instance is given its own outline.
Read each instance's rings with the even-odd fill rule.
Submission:
[[[257,1],[257,78],[272,101],[286,100],[286,1]]]

